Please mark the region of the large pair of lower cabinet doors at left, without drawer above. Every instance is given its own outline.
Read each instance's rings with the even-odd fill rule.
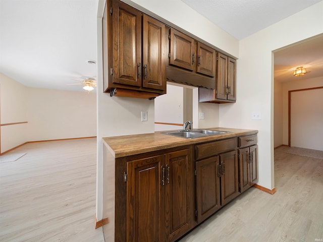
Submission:
[[[175,241],[193,227],[191,149],[127,163],[127,241]]]

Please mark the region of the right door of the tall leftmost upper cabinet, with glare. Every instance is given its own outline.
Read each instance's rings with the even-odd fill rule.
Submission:
[[[144,15],[142,34],[142,86],[165,90],[167,61],[165,25]]]

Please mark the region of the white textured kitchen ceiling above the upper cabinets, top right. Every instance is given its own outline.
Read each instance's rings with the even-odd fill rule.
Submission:
[[[321,0],[181,1],[240,40]]]

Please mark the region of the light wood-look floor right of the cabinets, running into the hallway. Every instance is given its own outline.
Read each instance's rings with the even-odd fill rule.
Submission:
[[[275,187],[250,188],[180,241],[323,241],[323,160],[276,149]]]

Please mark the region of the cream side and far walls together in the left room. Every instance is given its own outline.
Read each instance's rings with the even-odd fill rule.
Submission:
[[[1,76],[1,152],[28,141],[96,136],[96,94],[28,88]]]

